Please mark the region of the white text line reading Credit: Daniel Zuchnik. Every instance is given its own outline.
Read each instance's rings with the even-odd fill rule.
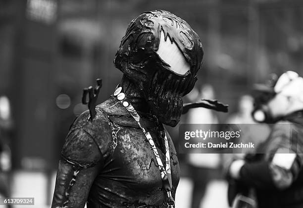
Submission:
[[[248,144],[244,143],[234,143],[234,142],[226,142],[226,143],[220,143],[220,144],[213,144],[211,142],[206,143],[196,143],[196,144],[190,144],[189,142],[186,142],[184,144],[185,148],[254,148],[254,144],[252,142],[249,142]]]

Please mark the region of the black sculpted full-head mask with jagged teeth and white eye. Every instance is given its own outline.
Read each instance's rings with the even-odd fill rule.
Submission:
[[[152,113],[176,126],[182,97],[193,89],[202,57],[200,38],[187,22],[154,10],[130,22],[114,63],[140,89]]]

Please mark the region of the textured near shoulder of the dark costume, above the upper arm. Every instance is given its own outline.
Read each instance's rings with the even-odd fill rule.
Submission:
[[[80,114],[70,127],[62,149],[62,156],[81,165],[98,162],[108,154],[111,145],[111,127],[108,113],[115,101],[109,99],[96,106],[96,116],[89,120],[89,110]]]

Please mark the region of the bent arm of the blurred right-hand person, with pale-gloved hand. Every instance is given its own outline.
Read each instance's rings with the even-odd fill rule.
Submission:
[[[291,149],[289,143],[293,138],[290,138],[289,128],[275,126],[269,138],[273,150],[268,150],[268,155],[258,161],[235,160],[229,169],[231,177],[257,189],[284,190],[290,187],[303,168],[303,156],[300,154],[302,144]]]

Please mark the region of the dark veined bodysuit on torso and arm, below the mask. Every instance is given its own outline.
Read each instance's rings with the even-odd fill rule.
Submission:
[[[137,122],[115,98],[97,105],[96,111],[93,121],[86,111],[70,128],[59,162],[61,171],[57,174],[52,207],[81,207],[85,198],[87,208],[167,207],[155,156]],[[138,113],[165,164],[162,126],[150,114]],[[175,197],[180,169],[174,145],[167,138]],[[68,186],[60,186],[60,181]],[[86,188],[88,196],[83,196]]]

